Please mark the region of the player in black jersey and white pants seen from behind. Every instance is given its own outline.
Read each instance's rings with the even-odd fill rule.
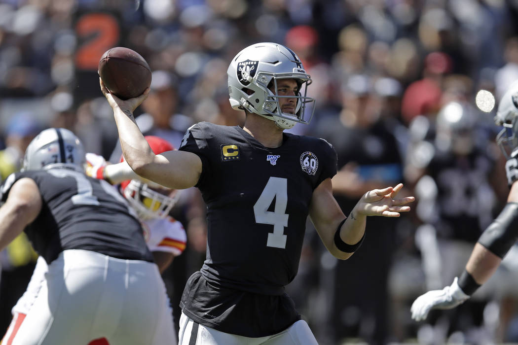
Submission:
[[[37,295],[15,312],[3,343],[111,345],[176,340],[165,285],[125,199],[85,175],[79,139],[49,128],[0,189],[0,249],[25,231],[48,264]],[[32,287],[34,290],[34,286]]]

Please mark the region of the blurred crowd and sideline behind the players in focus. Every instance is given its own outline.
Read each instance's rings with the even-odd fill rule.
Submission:
[[[299,274],[287,288],[319,343],[518,342],[518,254],[454,310],[410,319],[413,299],[464,268],[508,194],[493,112],[518,79],[516,0],[0,0],[0,174],[20,168],[41,129],[74,131],[87,149],[120,159],[117,128],[99,91],[109,48],[148,61],[151,93],[136,110],[145,134],[178,147],[200,121],[240,125],[226,70],[249,44],[285,44],[302,59],[316,98],[309,125],[338,153],[335,196],[349,214],[372,188],[405,183],[410,214],[367,222],[347,261],[327,253],[308,221]],[[486,109],[487,110],[487,109]],[[186,279],[205,259],[205,206],[196,189],[172,211],[188,247],[164,273],[176,322]],[[257,258],[261,260],[261,258]],[[35,253],[20,236],[0,253],[0,333]]]

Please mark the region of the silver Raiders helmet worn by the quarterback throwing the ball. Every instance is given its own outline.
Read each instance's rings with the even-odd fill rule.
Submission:
[[[266,117],[283,129],[295,123],[308,124],[314,111],[306,106],[314,99],[307,97],[312,80],[298,56],[277,43],[256,43],[241,50],[228,66],[228,95],[233,109],[247,110]],[[299,86],[295,96],[279,96],[277,81],[295,79]],[[272,92],[270,88],[274,90]],[[284,113],[279,98],[296,98],[295,114]],[[309,108],[309,107],[308,107]]]

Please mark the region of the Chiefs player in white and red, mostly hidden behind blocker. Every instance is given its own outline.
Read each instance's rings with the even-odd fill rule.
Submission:
[[[169,142],[159,137],[146,136],[146,140],[155,154],[175,149]],[[87,153],[86,158],[87,175],[105,179],[112,185],[120,184],[119,191],[141,221],[147,246],[159,266],[160,273],[163,273],[172,260],[185,249],[187,239],[185,230],[179,221],[169,216],[169,211],[178,200],[180,191],[140,178],[123,158],[117,164],[110,164],[104,157],[93,153]],[[15,326],[15,321],[27,314],[31,308],[47,271],[46,261],[39,257],[26,291],[12,308],[13,322],[6,335]],[[108,341],[100,338],[93,340],[89,345],[108,345]]]

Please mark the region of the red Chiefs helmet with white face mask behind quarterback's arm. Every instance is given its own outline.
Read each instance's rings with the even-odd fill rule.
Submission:
[[[175,149],[168,141],[155,136],[145,137],[155,155]],[[121,162],[124,156],[121,156]],[[121,183],[124,198],[135,209],[141,220],[167,217],[180,193],[145,179],[131,179]]]

